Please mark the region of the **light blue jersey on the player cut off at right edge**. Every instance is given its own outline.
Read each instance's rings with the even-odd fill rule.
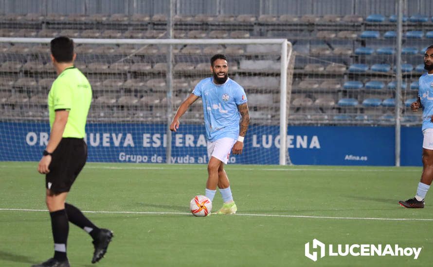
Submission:
[[[423,108],[422,130],[433,128],[433,74],[424,73],[419,77],[418,97]]]

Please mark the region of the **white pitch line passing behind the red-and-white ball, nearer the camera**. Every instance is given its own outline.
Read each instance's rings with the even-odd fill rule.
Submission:
[[[43,211],[38,209],[7,209],[0,208],[0,211]],[[147,211],[83,211],[86,213],[110,213],[110,214],[175,214],[175,215],[191,215],[187,212],[147,212]],[[289,217],[289,218],[312,218],[312,219],[341,219],[341,220],[390,220],[390,221],[433,221],[427,218],[375,218],[375,217],[331,217],[331,216],[307,216],[307,215],[278,215],[278,214],[246,214],[237,213],[236,216],[253,216],[253,217]]]

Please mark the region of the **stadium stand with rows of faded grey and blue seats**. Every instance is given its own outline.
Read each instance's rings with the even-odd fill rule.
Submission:
[[[407,101],[416,97],[417,77],[424,71],[420,64],[420,53],[430,45],[433,26],[429,16],[406,15],[403,18],[405,45],[402,49],[401,67],[404,75],[402,94],[407,99],[407,104]],[[140,13],[29,13],[2,14],[0,22],[0,35],[3,37],[51,38],[68,35],[72,38],[165,38],[167,16]],[[380,124],[380,120],[371,119],[372,114],[368,114],[370,117],[365,115],[364,108],[373,109],[371,112],[379,118],[385,113],[384,107],[393,105],[393,90],[396,88],[395,24],[396,16],[392,14],[177,14],[174,35],[176,38],[287,37],[294,44],[297,55],[289,114],[305,115],[293,116],[293,121],[289,123],[316,123],[311,116],[306,119],[307,115],[319,111],[325,116],[326,112],[334,112],[331,109],[339,108],[338,115],[327,117],[328,122],[338,124],[357,120],[361,121],[359,123],[367,121]],[[2,78],[1,82],[2,108],[28,101],[38,104],[34,107],[35,110],[41,108],[41,95],[46,93],[51,79],[55,77],[49,65],[49,57],[38,56],[48,53],[48,47],[1,44],[0,52],[0,72],[2,77],[8,77]],[[155,78],[155,73],[167,69],[164,57],[166,48],[79,45],[76,52],[81,69],[91,80],[96,104],[112,105],[114,112],[115,105],[123,108],[127,106],[132,110],[140,103],[150,104],[157,100],[158,104],[162,103],[163,93],[161,99],[153,100],[148,99],[148,93],[163,92],[166,87],[164,80]],[[275,92],[278,84],[253,80],[255,76],[263,76],[257,69],[276,73],[279,66],[275,66],[275,58],[269,58],[271,53],[252,50],[247,46],[184,46],[174,47],[174,52],[174,71],[178,79],[175,89],[179,94],[177,98],[184,97],[194,87],[192,81],[208,73],[208,58],[203,55],[227,53],[234,59],[233,65],[231,64],[232,75],[244,82],[252,107],[257,108],[253,111],[265,119],[276,117],[275,114],[260,113],[260,107],[264,101],[269,101],[272,105],[278,103],[272,97],[272,94],[276,95],[272,92]],[[248,60],[236,55],[246,55]],[[186,56],[194,57],[196,64],[184,62]],[[124,57],[127,60],[119,62]],[[186,77],[181,80],[178,74]],[[248,82],[249,79],[253,82]],[[24,87],[38,86],[44,90],[24,92]],[[109,95],[101,95],[102,93]],[[331,109],[323,109],[324,107]],[[347,107],[355,109],[345,109]],[[156,109],[150,108],[148,112],[153,110]],[[156,113],[163,114],[161,111]],[[161,118],[156,113],[155,117]],[[382,118],[386,123],[389,122],[390,117]],[[412,119],[408,121],[414,122]]]

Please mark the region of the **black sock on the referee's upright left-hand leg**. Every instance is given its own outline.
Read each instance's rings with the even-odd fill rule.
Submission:
[[[66,211],[58,210],[50,212],[51,228],[54,237],[54,259],[58,261],[65,261],[66,257],[66,243],[68,242],[69,222]]]

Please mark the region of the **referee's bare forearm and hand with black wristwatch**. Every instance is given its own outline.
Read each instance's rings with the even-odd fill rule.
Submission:
[[[66,123],[68,122],[69,110],[57,110],[55,112],[53,127],[50,133],[50,139],[48,140],[47,150],[49,153],[53,153],[55,148],[62,140],[63,132],[65,131]],[[41,174],[49,173],[48,167],[51,163],[51,155],[43,156],[37,167],[37,171]]]

